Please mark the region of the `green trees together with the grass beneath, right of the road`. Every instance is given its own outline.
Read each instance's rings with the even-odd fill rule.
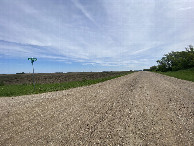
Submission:
[[[194,48],[192,45],[185,51],[170,52],[165,54],[161,60],[156,61],[157,66],[151,66],[144,71],[154,71],[164,75],[194,81]]]

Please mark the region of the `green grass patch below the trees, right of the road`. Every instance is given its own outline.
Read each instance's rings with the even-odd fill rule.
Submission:
[[[187,69],[187,70],[157,72],[157,73],[194,82],[194,68]]]

